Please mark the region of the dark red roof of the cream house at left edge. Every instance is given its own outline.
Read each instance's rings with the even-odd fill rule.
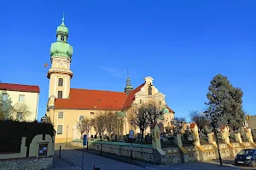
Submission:
[[[38,86],[11,83],[0,83],[0,90],[40,93],[40,89]]]

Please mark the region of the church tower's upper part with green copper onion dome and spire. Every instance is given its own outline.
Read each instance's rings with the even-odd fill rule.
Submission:
[[[61,26],[57,27],[56,42],[50,47],[51,67],[48,71],[49,97],[67,99],[70,92],[70,80],[73,72],[70,70],[73,47],[67,43],[68,28],[64,24],[64,14]]]

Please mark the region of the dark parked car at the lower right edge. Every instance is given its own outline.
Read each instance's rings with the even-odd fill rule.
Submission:
[[[256,167],[256,150],[241,150],[235,157],[235,164]]]

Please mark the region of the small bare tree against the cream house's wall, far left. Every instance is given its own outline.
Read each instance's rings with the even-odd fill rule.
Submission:
[[[17,121],[26,121],[31,114],[32,112],[30,111],[28,105],[17,103],[14,106],[12,117]]]

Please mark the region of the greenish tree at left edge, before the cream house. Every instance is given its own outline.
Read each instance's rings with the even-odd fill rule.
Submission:
[[[3,99],[4,95],[7,95],[6,99]],[[13,109],[12,100],[10,99],[9,94],[2,91],[0,94],[0,120],[11,118]]]

